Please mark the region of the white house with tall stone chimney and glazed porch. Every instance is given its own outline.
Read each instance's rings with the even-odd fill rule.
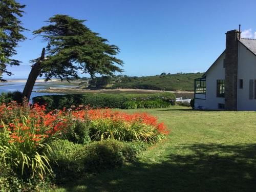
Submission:
[[[195,79],[195,108],[256,111],[256,39],[226,33],[226,49]]]

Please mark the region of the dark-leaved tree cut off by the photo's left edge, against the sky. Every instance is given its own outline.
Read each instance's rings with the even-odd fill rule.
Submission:
[[[8,65],[18,66],[20,63],[11,57],[17,53],[15,48],[18,42],[25,40],[25,36],[21,34],[25,28],[22,27],[22,22],[18,18],[23,16],[24,8],[25,5],[20,5],[14,0],[0,1],[0,81],[4,81],[3,73],[12,75],[6,69]]]

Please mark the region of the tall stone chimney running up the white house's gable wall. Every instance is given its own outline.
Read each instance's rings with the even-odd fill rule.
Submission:
[[[237,110],[238,39],[238,30],[226,33],[225,109],[230,111]]]

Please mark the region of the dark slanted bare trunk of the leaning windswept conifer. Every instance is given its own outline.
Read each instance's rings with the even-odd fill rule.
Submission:
[[[29,73],[28,80],[26,82],[25,88],[23,90],[23,97],[26,97],[28,100],[30,99],[35,81],[39,75],[41,70],[41,61],[45,60],[45,48],[42,48],[42,53],[40,59],[32,66],[32,69]]]

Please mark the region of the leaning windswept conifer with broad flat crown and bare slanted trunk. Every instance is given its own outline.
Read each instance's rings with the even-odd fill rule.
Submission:
[[[67,15],[55,15],[48,20],[49,25],[33,32],[41,35],[48,43],[47,55],[42,50],[41,57],[33,60],[23,95],[30,98],[34,83],[38,76],[45,76],[45,81],[52,77],[79,78],[78,71],[95,74],[114,75],[122,72],[116,66],[123,65],[123,61],[116,58],[119,48],[107,44],[108,40],[92,32],[83,23]]]

